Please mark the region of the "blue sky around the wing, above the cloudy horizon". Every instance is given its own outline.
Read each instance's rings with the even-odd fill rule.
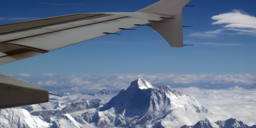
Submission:
[[[87,12],[135,12],[148,1],[0,1],[0,24]],[[192,0],[183,10],[184,48],[172,48],[148,26],[122,31],[0,66],[1,74],[256,75],[256,1]],[[239,15],[241,13],[241,15]],[[223,17],[221,17],[221,14]],[[212,24],[234,14],[250,28]],[[216,16],[215,19],[212,19]],[[244,18],[245,17],[245,18]],[[248,23],[249,22],[249,23]],[[251,24],[251,23],[252,24]],[[234,23],[234,22],[233,22]]]

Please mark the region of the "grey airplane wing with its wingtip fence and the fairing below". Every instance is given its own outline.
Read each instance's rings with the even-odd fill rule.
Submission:
[[[189,0],[161,0],[137,12],[78,13],[0,25],[0,65],[142,25],[155,29],[172,47],[183,47],[182,8],[188,2]],[[6,79],[6,76],[0,76],[1,79]],[[15,81],[13,78],[12,80]],[[34,88],[31,84],[29,87],[20,86],[24,85],[23,82],[0,81],[1,84],[6,84],[6,88],[15,86],[42,92],[42,88]],[[20,90],[23,92],[24,88]],[[21,99],[28,97],[22,96],[21,92],[12,95]],[[4,108],[47,102],[45,97],[49,94],[33,95],[41,98],[19,104],[15,104],[17,101],[13,100],[12,104],[8,102],[9,105]],[[5,97],[8,99],[8,93]],[[4,99],[0,98],[0,102],[4,102],[2,100]]]

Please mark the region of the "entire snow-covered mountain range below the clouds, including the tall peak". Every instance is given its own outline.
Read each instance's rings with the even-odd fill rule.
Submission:
[[[113,97],[115,96],[115,97]],[[112,98],[112,99],[111,99]],[[117,95],[102,90],[99,95],[66,93],[50,96],[43,104],[0,109],[0,127],[173,127],[188,124],[197,115],[213,115],[192,96],[168,86],[155,86],[136,79]],[[204,117],[205,118],[205,117]],[[193,122],[193,123],[195,123]],[[211,122],[207,118],[182,128],[256,128],[236,119]]]

